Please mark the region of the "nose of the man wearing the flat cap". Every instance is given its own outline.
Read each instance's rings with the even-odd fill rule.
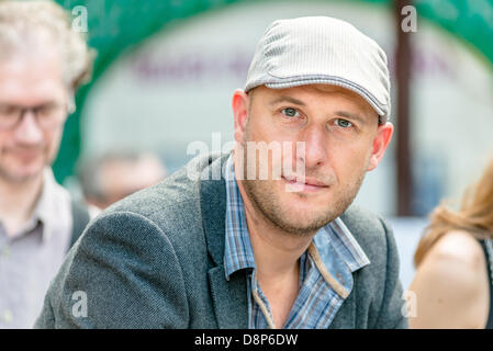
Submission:
[[[307,169],[316,168],[325,163],[327,159],[326,135],[322,127],[311,126],[304,131],[304,165]]]

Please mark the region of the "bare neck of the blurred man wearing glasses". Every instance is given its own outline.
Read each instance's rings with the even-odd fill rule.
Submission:
[[[13,236],[32,216],[43,180],[43,172],[24,182],[0,178],[0,222],[9,236]]]

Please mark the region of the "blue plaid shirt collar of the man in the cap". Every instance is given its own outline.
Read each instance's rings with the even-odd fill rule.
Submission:
[[[255,269],[255,257],[248,234],[245,208],[236,183],[233,154],[226,161],[226,234],[224,250],[224,270],[226,280],[234,272]],[[352,288],[351,273],[370,264],[350,230],[340,219],[334,219],[322,227],[313,238],[311,256],[316,254],[318,270],[326,268],[346,290]],[[320,264],[322,263],[322,265]],[[325,276],[324,276],[325,278]]]

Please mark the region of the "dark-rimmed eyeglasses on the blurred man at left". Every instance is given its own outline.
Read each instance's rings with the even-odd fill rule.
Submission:
[[[42,129],[49,129],[59,125],[65,120],[68,107],[55,102],[33,107],[0,104],[0,129],[13,129],[21,123],[29,111],[34,114],[37,125]]]

